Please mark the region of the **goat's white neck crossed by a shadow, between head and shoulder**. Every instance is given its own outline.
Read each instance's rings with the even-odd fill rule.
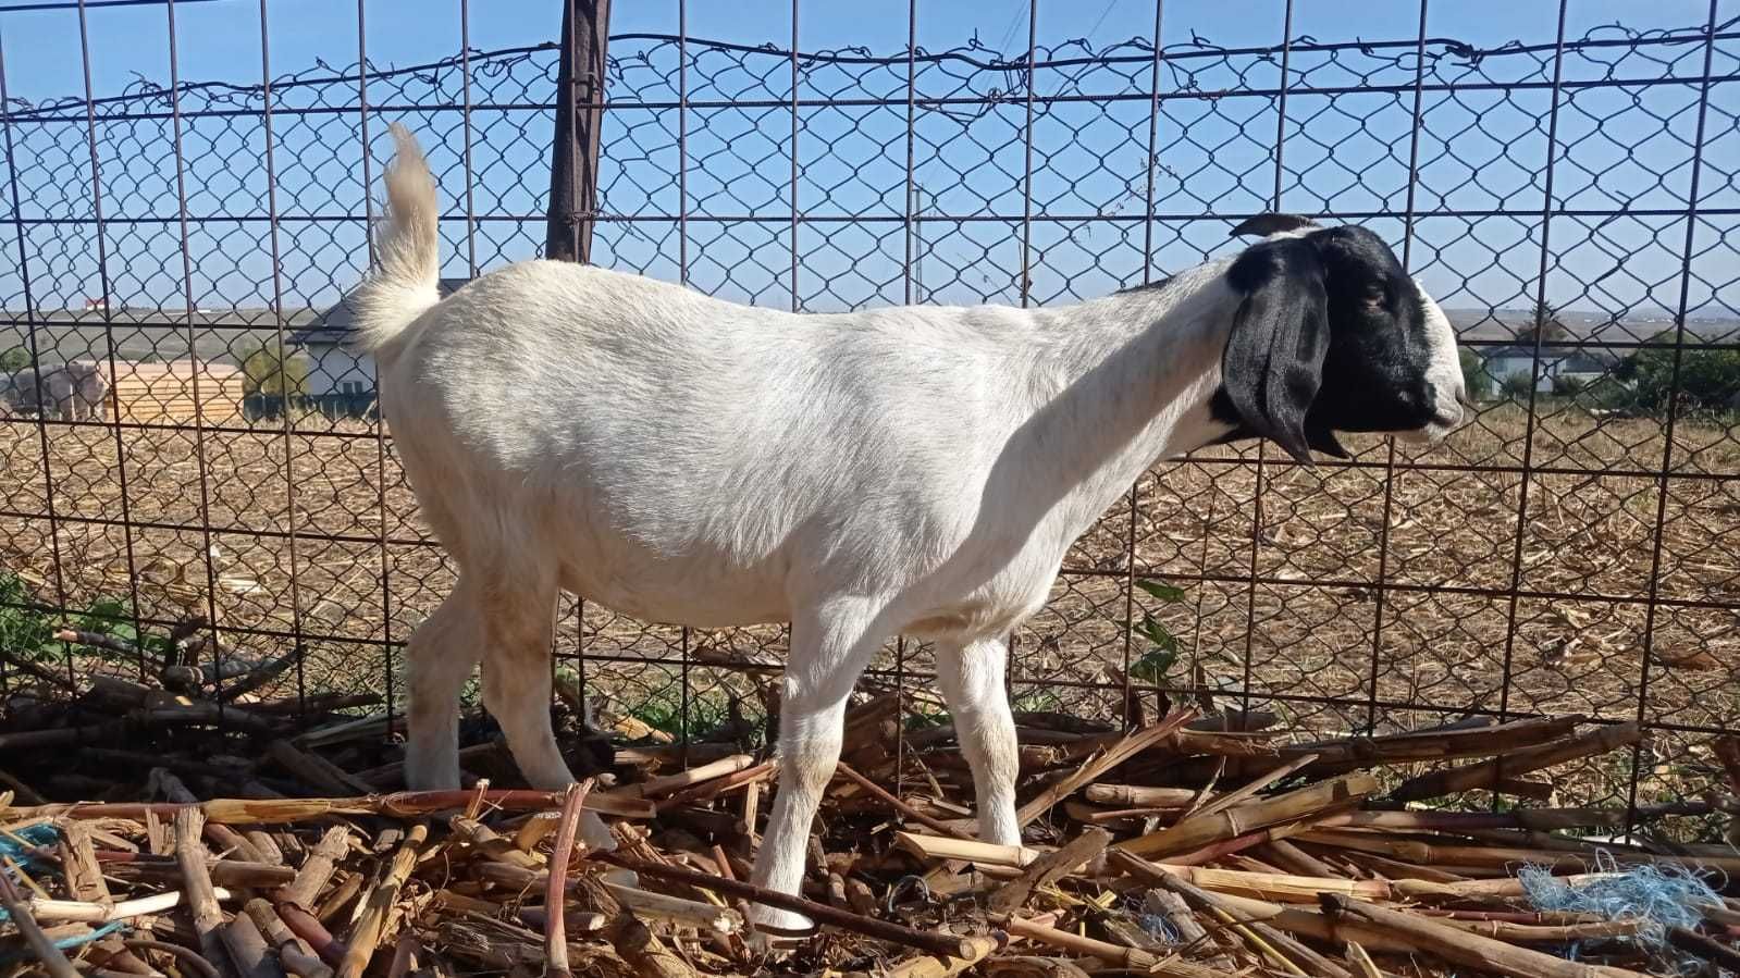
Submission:
[[[1190,273],[1185,273],[1190,275]],[[1181,277],[1183,278],[1183,277]],[[1218,275],[1037,313],[1034,414],[1016,435],[1037,452],[1034,489],[1074,539],[1155,461],[1225,435],[1209,402],[1232,322]]]

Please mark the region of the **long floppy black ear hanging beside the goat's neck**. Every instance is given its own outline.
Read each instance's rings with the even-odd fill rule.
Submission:
[[[1333,433],[1305,428],[1329,352],[1329,299],[1317,249],[1302,240],[1251,245],[1227,270],[1227,280],[1242,299],[1221,355],[1221,386],[1239,419],[1305,465],[1312,447],[1340,449]]]

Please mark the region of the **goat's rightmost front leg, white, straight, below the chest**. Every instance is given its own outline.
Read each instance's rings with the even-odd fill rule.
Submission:
[[[1002,686],[1009,647],[1002,642],[938,642],[936,682],[955,719],[955,740],[973,769],[978,795],[980,839],[1018,846],[1021,827],[1014,821],[1014,780],[1020,755],[1014,717]]]

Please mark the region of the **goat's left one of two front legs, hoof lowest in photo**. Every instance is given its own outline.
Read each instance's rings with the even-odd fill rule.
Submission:
[[[797,894],[804,882],[811,825],[840,760],[846,698],[882,639],[870,632],[870,618],[867,609],[851,606],[792,623],[780,696],[780,790],[755,858],[757,886]],[[781,929],[809,926],[800,914],[771,907],[757,907],[753,917]]]

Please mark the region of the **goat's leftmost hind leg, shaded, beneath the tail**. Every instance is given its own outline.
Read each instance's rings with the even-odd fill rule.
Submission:
[[[405,787],[412,790],[459,787],[459,691],[484,651],[482,609],[470,581],[461,573],[405,646]]]

